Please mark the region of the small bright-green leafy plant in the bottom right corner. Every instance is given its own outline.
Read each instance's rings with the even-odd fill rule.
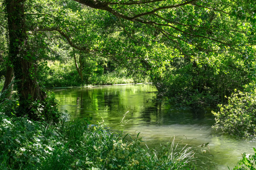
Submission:
[[[254,155],[243,153],[243,158],[239,160],[233,170],[256,170],[256,149],[253,148],[253,150]]]

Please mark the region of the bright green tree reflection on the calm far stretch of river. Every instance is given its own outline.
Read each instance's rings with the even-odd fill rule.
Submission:
[[[155,89],[144,88],[128,85],[108,88],[66,89],[63,95],[61,92],[57,92],[56,96],[62,100],[61,106],[65,106],[62,109],[70,111],[73,118],[93,117],[97,122],[101,121],[102,117],[106,123],[120,124],[124,113],[130,111],[125,119],[132,119],[129,124],[139,124],[141,122],[140,117],[144,117],[143,121],[154,119],[147,117],[148,112],[151,112],[150,110],[161,109],[161,107],[155,108],[157,104],[151,106],[153,104],[151,102],[149,102],[150,106],[147,107],[147,99],[155,94],[146,92]]]

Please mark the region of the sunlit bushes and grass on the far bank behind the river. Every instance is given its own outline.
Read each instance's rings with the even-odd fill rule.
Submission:
[[[115,68],[105,71],[103,66],[89,66],[83,70],[84,81],[82,82],[73,61],[62,63],[60,61],[48,61],[48,69],[41,64],[38,68],[38,78],[45,87],[68,87],[85,85],[112,85],[133,83],[133,79],[125,69]],[[101,71],[102,70],[102,71]]]

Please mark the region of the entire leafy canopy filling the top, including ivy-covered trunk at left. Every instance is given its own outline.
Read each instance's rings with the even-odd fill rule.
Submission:
[[[81,79],[84,60],[93,59],[95,64],[110,60],[128,68],[134,79],[148,75],[159,92],[171,88],[170,73],[179,70],[184,75],[180,69],[191,68],[187,76],[198,77],[191,89],[201,93],[217,86],[221,100],[231,94],[237,78],[243,76],[239,88],[255,79],[252,0],[5,0],[1,6],[0,27],[9,41],[7,50],[7,39],[2,37],[1,57],[9,69],[5,85],[13,69],[21,80],[17,82],[20,113],[28,112],[28,100],[44,100],[37,67],[46,66],[42,61],[52,56],[73,56]],[[227,83],[235,72],[236,80]]]

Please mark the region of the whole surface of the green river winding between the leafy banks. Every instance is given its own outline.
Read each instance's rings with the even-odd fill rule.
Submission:
[[[209,142],[213,155],[209,158],[215,164],[215,169],[228,169],[228,166],[233,168],[241,159],[241,153],[252,154],[252,147],[256,147],[255,137],[236,139],[216,133],[211,128],[214,117],[210,108],[170,110],[163,103],[153,103],[150,99],[155,93],[148,93],[156,91],[152,85],[115,85],[53,91],[60,102],[60,111],[68,110],[71,119],[92,117],[92,124],[104,120],[114,130],[124,130],[134,136],[141,132],[141,137],[150,147],[165,144],[172,136],[179,135],[186,136],[183,137],[183,143],[189,146]],[[125,114],[127,111],[129,112]]]

